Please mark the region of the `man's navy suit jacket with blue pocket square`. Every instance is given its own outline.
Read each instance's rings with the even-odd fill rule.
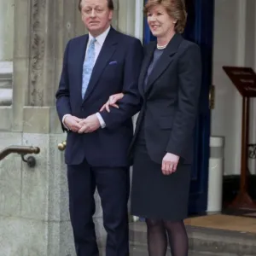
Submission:
[[[85,134],[67,132],[65,160],[67,165],[79,165],[86,159],[91,166],[128,166],[127,150],[133,135],[131,117],[136,113],[140,101],[137,82],[143,47],[137,38],[111,28],[96,60],[83,100],[82,68],[88,38],[88,35],[84,35],[67,43],[56,92],[60,120],[67,113],[84,119],[98,112],[109,96],[120,91],[124,91],[126,96],[120,102],[119,109],[101,113],[106,123],[104,129]]]

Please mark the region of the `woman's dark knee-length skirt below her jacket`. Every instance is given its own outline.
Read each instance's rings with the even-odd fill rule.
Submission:
[[[187,218],[191,166],[178,165],[176,172],[163,175],[161,165],[148,155],[143,129],[134,150],[131,214],[169,221]]]

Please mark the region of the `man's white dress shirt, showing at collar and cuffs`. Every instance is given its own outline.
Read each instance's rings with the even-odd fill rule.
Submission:
[[[95,42],[95,60],[94,60],[94,65],[96,63],[96,60],[101,52],[101,49],[102,49],[102,45],[104,44],[107,36],[108,36],[108,32],[110,30],[110,26],[108,27],[107,30],[105,30],[104,32],[102,32],[102,34],[100,34],[99,36],[96,37],[96,42]],[[87,47],[86,47],[86,52],[85,52],[85,56],[84,58],[86,57],[87,55],[87,51],[88,51],[88,48],[89,48],[89,45],[90,45],[90,41],[91,39],[93,38],[93,36],[89,33],[89,39],[88,39],[88,42],[87,42]],[[67,128],[67,126],[64,124],[64,121],[67,117],[67,115],[70,115],[69,113],[65,114],[62,118],[62,124]],[[102,115],[100,113],[96,113],[96,117],[97,119],[99,120],[102,128],[106,127],[106,124],[104,122],[104,120],[102,119]],[[68,128],[67,128],[68,129]]]

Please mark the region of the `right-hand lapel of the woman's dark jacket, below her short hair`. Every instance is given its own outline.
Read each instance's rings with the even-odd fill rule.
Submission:
[[[165,51],[160,56],[158,64],[152,70],[152,73],[148,77],[148,84],[146,86],[145,93],[152,87],[154,81],[160,77],[166,68],[172,63],[173,56],[177,52],[179,44],[182,42],[183,38],[180,34],[176,33],[171,39],[170,43],[167,45]]]

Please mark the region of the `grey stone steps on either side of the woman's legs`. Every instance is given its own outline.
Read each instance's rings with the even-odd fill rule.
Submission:
[[[256,234],[192,226],[187,230],[189,256],[256,256]],[[131,256],[148,256],[144,223],[130,224],[130,243]]]

